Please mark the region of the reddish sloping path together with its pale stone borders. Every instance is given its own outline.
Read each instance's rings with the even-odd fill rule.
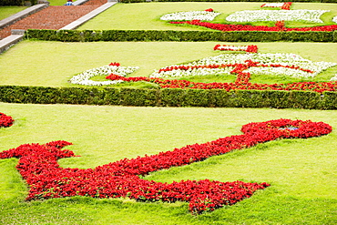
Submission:
[[[117,1],[112,0],[79,0],[73,6],[48,6],[38,4],[29,7],[25,12],[10,16],[0,23],[0,54],[24,38],[24,35],[13,36],[13,30],[27,29],[76,29],[89,19],[105,11]],[[2,29],[1,29],[2,28]]]

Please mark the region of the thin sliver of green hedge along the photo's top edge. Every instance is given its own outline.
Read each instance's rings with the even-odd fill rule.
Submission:
[[[144,3],[151,0],[119,0],[121,3]],[[152,2],[285,2],[284,0],[152,0]],[[337,3],[337,0],[296,0],[302,3]]]

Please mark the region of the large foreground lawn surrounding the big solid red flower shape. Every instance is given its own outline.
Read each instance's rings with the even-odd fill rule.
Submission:
[[[61,167],[95,168],[117,159],[239,135],[250,122],[291,118],[323,121],[337,128],[335,111],[272,108],[111,107],[0,103],[15,118],[0,129],[0,150],[63,139],[78,158]],[[140,203],[85,197],[26,202],[17,159],[0,159],[2,224],[333,224],[337,218],[337,135],[284,139],[162,170],[146,179],[172,182],[214,179],[268,182],[238,204],[192,216],[188,203]]]

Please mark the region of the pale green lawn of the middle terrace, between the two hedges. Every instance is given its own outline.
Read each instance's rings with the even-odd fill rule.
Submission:
[[[314,62],[336,61],[335,43],[221,43],[221,42],[92,42],[63,43],[23,41],[0,55],[0,85],[78,87],[68,80],[88,69],[118,62],[121,66],[139,66],[132,77],[148,77],[155,69],[183,64],[208,56],[224,54],[214,51],[221,45],[257,45],[259,53],[293,53]],[[329,81],[337,73],[333,66],[315,79]],[[210,81],[214,77],[210,77]],[[216,77],[218,82],[233,82]],[[252,83],[285,83],[280,77],[252,77]],[[105,77],[100,77],[105,80]],[[286,79],[287,80],[287,79]],[[200,81],[203,80],[193,80]],[[292,79],[294,81],[301,81]],[[207,82],[207,81],[204,81]]]

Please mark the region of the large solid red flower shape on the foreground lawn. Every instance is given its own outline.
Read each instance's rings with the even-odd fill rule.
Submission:
[[[242,135],[219,138],[204,144],[188,145],[157,155],[121,159],[95,169],[63,169],[57,159],[74,157],[74,152],[62,149],[71,143],[53,141],[46,144],[25,144],[0,152],[0,159],[19,158],[16,169],[26,179],[29,194],[26,198],[50,199],[70,196],[94,198],[128,197],[140,201],[188,201],[192,213],[215,210],[249,198],[267,183],[242,181],[220,182],[182,180],[161,183],[140,179],[159,169],[188,165],[221,155],[233,149],[250,148],[277,138],[311,138],[329,134],[332,127],[310,120],[278,119],[250,123],[241,128]]]

